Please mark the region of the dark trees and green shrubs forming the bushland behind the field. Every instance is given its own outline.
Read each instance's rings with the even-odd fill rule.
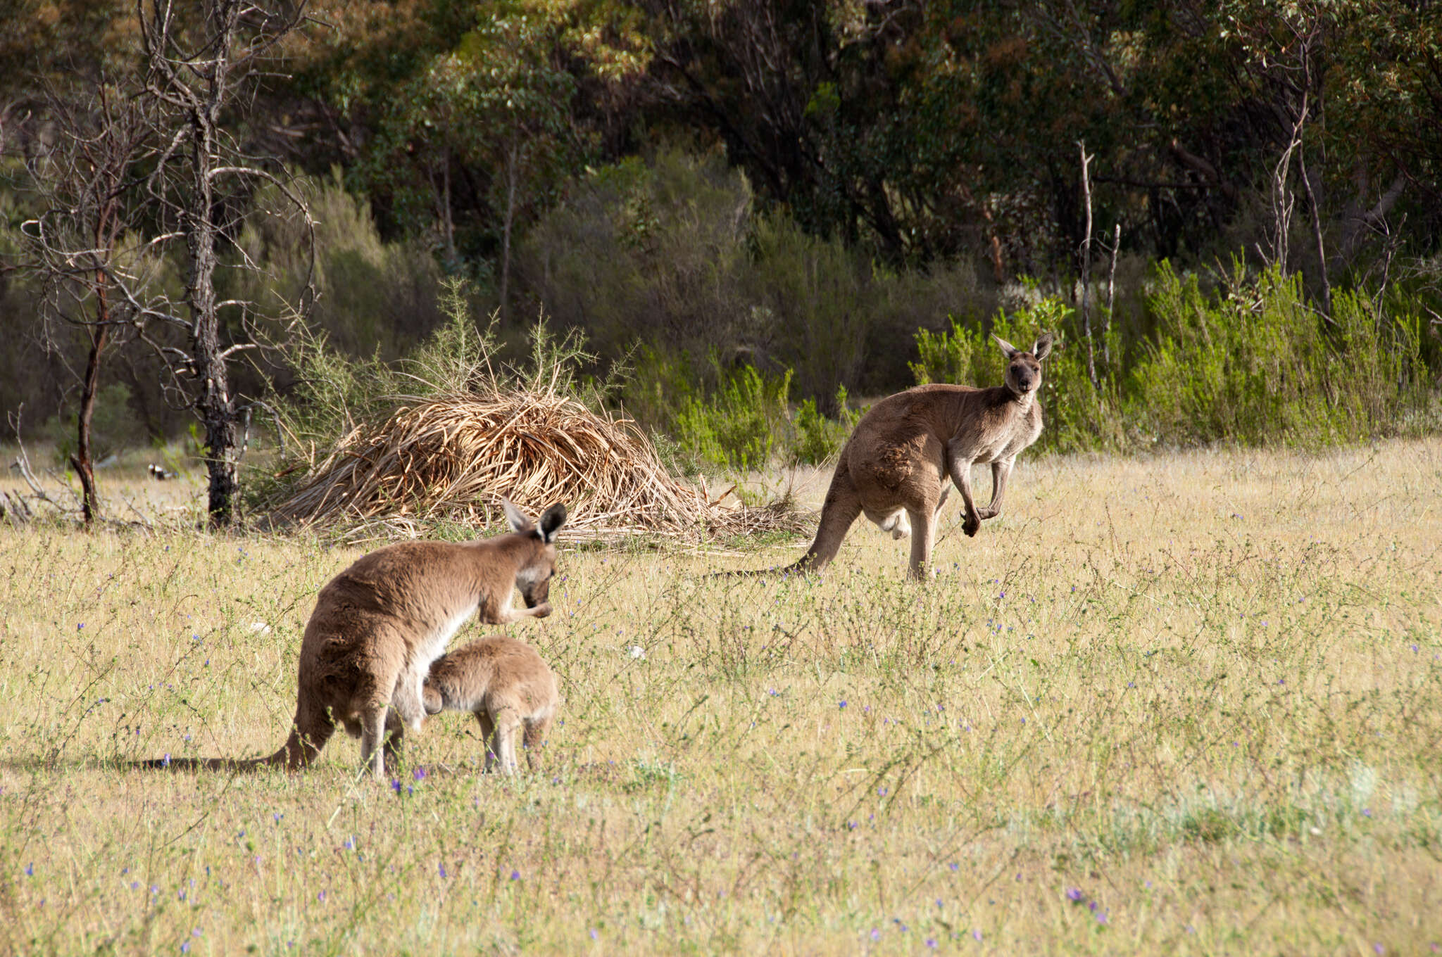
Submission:
[[[459,275],[502,339],[521,344],[544,313],[584,331],[598,366],[629,363],[611,401],[696,467],[825,457],[848,395],[995,382],[994,327],[1061,333],[1057,448],[1435,422],[1435,4],[310,12],[286,40],[288,72],[224,124],[298,177],[317,221],[301,320],[340,355],[415,347],[440,321],[440,281]],[[23,404],[25,432],[63,437],[87,334],[45,314],[22,225],[63,146],[56,105],[84,110],[137,69],[134,7],[22,0],[0,17],[0,408]],[[260,272],[216,280],[265,314],[310,268],[277,205],[257,189],[232,218],[228,267]],[[153,270],[185,282],[174,257]],[[244,393],[288,388],[283,355],[249,359]],[[115,342],[101,444],[186,428],[159,373]]]

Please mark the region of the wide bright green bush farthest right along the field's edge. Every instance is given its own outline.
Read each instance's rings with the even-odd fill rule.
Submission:
[[[1149,307],[1156,339],[1132,372],[1129,417],[1152,440],[1350,441],[1406,431],[1430,391],[1420,320],[1338,291],[1324,317],[1299,277],[1240,267],[1206,294],[1168,264]]]

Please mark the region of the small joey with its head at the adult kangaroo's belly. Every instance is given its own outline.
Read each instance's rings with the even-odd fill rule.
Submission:
[[[476,638],[431,662],[423,693],[428,715],[441,711],[476,715],[487,774],[497,761],[502,774],[516,773],[518,731],[526,764],[535,771],[536,749],[559,702],[555,675],[536,650],[503,634]]]

